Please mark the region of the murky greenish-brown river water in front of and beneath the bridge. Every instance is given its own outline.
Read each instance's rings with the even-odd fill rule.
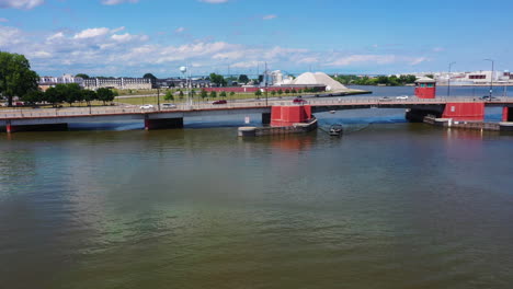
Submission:
[[[513,135],[352,117],[0,134],[0,288],[511,288]]]

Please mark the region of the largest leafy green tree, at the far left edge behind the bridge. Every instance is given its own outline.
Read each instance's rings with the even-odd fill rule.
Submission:
[[[0,51],[0,93],[7,96],[9,106],[13,96],[37,90],[38,79],[25,56]]]

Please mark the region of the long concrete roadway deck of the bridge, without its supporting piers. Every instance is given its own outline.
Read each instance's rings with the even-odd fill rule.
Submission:
[[[305,97],[305,104],[311,106],[312,113],[358,108],[410,108],[442,112],[447,103],[482,103],[485,106],[513,107],[513,99],[497,97],[483,101],[475,97],[418,99],[396,97]],[[103,107],[65,107],[65,108],[12,108],[0,109],[0,127],[52,125],[88,122],[151,120],[176,119],[194,116],[221,116],[240,114],[270,114],[276,105],[295,104],[290,99],[238,101],[214,105],[212,103],[180,104],[176,108],[141,109],[139,106],[103,106]]]

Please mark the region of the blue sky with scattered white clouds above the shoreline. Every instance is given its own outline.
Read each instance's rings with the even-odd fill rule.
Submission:
[[[0,0],[39,76],[513,70],[510,0]]]

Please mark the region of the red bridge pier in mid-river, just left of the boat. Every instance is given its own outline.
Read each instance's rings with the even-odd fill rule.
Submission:
[[[293,126],[307,123],[312,117],[310,105],[273,106],[271,108],[271,126]]]

